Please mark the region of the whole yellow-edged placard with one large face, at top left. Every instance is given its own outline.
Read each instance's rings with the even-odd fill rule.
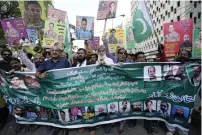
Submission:
[[[44,1],[19,1],[26,27],[44,27],[46,12]]]

